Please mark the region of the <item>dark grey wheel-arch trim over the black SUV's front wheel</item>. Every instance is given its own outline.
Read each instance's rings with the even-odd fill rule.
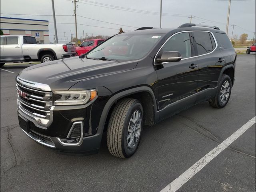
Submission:
[[[108,116],[108,112],[110,111],[110,108],[112,107],[112,105],[120,98],[130,95],[130,94],[134,94],[134,93],[138,93],[138,92],[149,92],[154,100],[154,114],[155,114],[155,120],[158,120],[158,113],[157,113],[157,105],[156,105],[156,98],[154,95],[154,92],[152,91],[151,88],[149,88],[148,86],[140,86],[140,87],[136,87],[136,88],[132,88],[132,89],[128,89],[122,92],[119,92],[115,95],[113,95],[108,102],[106,103],[106,105],[104,106],[104,109],[102,111],[102,115],[100,118],[100,123],[99,123],[99,127],[98,127],[98,131],[97,134],[102,134],[103,129],[104,129],[104,125]],[[156,122],[156,121],[154,121]]]

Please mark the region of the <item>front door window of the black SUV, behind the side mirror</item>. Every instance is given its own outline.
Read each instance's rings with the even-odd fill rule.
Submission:
[[[178,51],[182,58],[191,57],[191,42],[188,32],[179,33],[164,44],[162,51]]]

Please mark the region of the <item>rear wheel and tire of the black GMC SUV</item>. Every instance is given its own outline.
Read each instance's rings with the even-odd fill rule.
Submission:
[[[225,88],[226,86],[226,88]],[[228,103],[228,100],[231,95],[232,82],[230,76],[223,74],[220,79],[220,84],[218,86],[218,92],[209,101],[210,106],[214,108],[223,108]]]

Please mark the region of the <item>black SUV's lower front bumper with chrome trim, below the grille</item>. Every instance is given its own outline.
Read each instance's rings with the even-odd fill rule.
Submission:
[[[46,129],[42,129],[41,126],[38,126],[38,124],[35,125],[35,122],[31,120],[30,116],[27,116],[26,113],[23,113],[19,108],[17,109],[17,113],[18,113],[19,124],[20,124],[20,127],[22,128],[22,131],[29,138],[31,138],[38,144],[45,146],[49,149],[52,149],[56,152],[60,152],[64,154],[72,154],[72,155],[76,155],[76,154],[86,155],[86,154],[95,154],[98,152],[100,148],[102,132],[96,132],[96,134],[94,135],[85,136],[86,128],[84,125],[87,124],[86,118],[84,120],[81,120],[82,118],[80,118],[77,121],[74,121],[74,119],[78,119],[78,118],[73,118],[72,120],[67,121],[64,116],[62,116],[61,118],[61,116],[56,115],[56,117],[58,118],[58,121],[53,122],[52,125],[61,125],[61,126],[59,126],[58,128],[54,126],[53,128],[51,125]],[[65,120],[66,122],[69,122],[69,123],[67,124],[65,122],[66,127],[63,127],[63,124],[61,124],[60,122],[63,122]],[[24,124],[26,124],[26,126],[24,126]],[[75,124],[82,125],[82,127],[80,128],[81,137],[79,142],[75,144],[68,144],[67,142],[63,142],[62,140],[65,139],[65,137],[68,138],[70,136],[72,128],[74,128]],[[60,131],[58,132],[58,130],[64,130],[64,129],[68,132],[68,134],[65,134],[65,136]],[[58,133],[56,133],[56,130]]]

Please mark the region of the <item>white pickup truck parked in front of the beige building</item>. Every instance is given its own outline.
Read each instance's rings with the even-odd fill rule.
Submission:
[[[6,62],[40,61],[41,63],[76,56],[73,44],[37,44],[25,35],[1,36],[1,66]]]

